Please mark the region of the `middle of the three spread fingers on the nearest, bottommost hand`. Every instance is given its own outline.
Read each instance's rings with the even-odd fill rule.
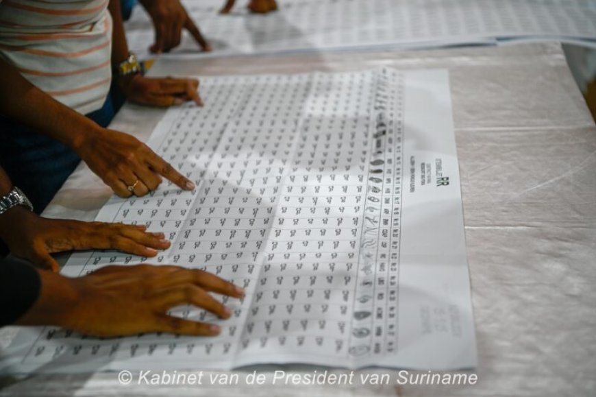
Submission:
[[[159,302],[164,311],[181,304],[192,304],[221,318],[228,318],[232,313],[223,303],[210,296],[207,291],[192,284],[161,291],[155,300]]]

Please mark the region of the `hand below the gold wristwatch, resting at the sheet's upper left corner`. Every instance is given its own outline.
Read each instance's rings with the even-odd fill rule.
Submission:
[[[131,75],[120,77],[119,84],[127,99],[137,104],[165,107],[192,100],[203,106],[197,91],[199,80],[196,79]]]

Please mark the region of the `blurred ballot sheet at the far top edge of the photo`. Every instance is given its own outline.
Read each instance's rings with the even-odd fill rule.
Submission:
[[[515,38],[596,46],[596,1],[570,0],[280,0],[279,10],[249,14],[238,1],[184,5],[214,51],[199,52],[185,32],[172,54],[227,56],[340,49],[411,49],[495,44]],[[136,8],[126,25],[129,47],[147,57],[153,25]]]

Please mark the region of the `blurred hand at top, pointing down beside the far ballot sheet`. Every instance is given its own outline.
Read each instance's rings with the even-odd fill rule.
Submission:
[[[156,43],[149,47],[154,53],[168,52],[178,47],[182,39],[182,28],[188,30],[203,51],[211,51],[209,43],[188,16],[179,0],[140,0],[147,10],[156,31]]]

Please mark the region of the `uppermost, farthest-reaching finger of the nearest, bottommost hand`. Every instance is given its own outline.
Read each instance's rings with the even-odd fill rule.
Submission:
[[[162,279],[159,287],[165,289],[184,284],[194,284],[206,291],[234,296],[236,298],[240,298],[245,294],[242,288],[232,284],[232,282],[228,282],[223,280],[223,278],[199,269],[180,269],[171,274],[167,279]]]

